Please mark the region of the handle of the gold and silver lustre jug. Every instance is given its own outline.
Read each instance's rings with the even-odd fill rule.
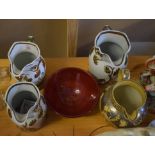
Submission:
[[[129,79],[130,79],[129,69],[119,69],[117,81],[129,80]]]

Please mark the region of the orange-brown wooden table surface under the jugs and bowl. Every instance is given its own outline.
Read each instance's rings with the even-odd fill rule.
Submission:
[[[131,78],[138,80],[139,73],[144,69],[144,62],[150,56],[129,56],[128,68],[131,72]],[[46,58],[46,77],[42,85],[39,87],[41,92],[48,77],[56,70],[63,67],[79,67],[84,70],[88,70],[88,58]],[[9,66],[7,59],[0,59],[0,67]],[[11,83],[15,81],[12,80]],[[155,119],[155,115],[148,114],[141,126],[146,126],[148,123]],[[6,110],[0,111],[0,135],[97,135],[99,133],[115,130],[116,127],[108,122],[105,117],[100,114],[98,105],[90,113],[82,117],[77,118],[65,118],[56,114],[52,110],[48,110],[47,119],[41,129],[36,131],[24,131],[18,128],[9,119]]]

